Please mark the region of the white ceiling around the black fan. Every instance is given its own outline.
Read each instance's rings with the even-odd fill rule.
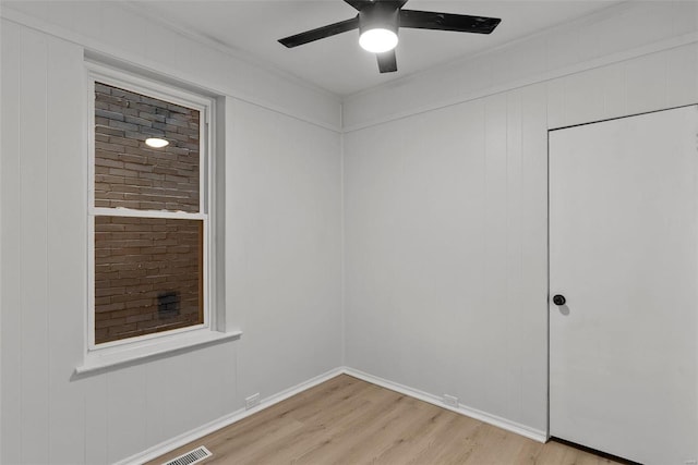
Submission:
[[[411,0],[405,9],[501,17],[491,35],[401,28],[398,71],[380,74],[358,30],[287,49],[277,39],[353,17],[342,0],[132,1],[147,15],[214,40],[236,54],[347,96],[465,58],[611,7],[618,1]]]

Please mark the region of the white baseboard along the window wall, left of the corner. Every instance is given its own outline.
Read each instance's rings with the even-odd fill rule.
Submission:
[[[308,381],[303,381],[300,384],[297,384],[292,388],[284,390],[277,394],[274,394],[269,397],[263,399],[260,401],[260,404],[249,411],[244,408],[240,408],[231,414],[225,415],[218,419],[209,421],[198,428],[194,428],[190,431],[186,431],[182,435],[179,435],[172,439],[168,439],[165,442],[160,442],[153,448],[149,448],[143,452],[139,452],[135,455],[132,455],[128,458],[117,462],[115,465],[137,465],[143,464],[145,462],[152,461],[154,458],[159,457],[170,451],[173,451],[177,448],[181,448],[182,445],[195,441],[200,438],[203,438],[206,435],[210,435],[214,431],[219,430],[220,428],[225,428],[228,425],[232,425],[236,421],[240,421],[243,418],[249,417],[250,415],[254,415],[260,411],[270,407],[274,404],[278,404],[286,399],[293,396],[300,392],[303,392],[310,388],[313,388],[320,383],[323,383],[338,375],[344,372],[344,367],[334,368],[323,375],[316,376],[315,378],[311,378]]]

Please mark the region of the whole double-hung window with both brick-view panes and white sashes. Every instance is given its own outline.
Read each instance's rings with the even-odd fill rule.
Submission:
[[[91,350],[208,330],[214,317],[213,103],[115,74],[93,70],[89,79]]]

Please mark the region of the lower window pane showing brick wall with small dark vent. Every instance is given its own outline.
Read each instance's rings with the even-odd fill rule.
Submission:
[[[203,323],[203,221],[95,218],[95,343]]]

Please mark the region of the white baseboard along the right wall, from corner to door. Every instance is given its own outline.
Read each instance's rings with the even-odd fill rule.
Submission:
[[[518,424],[516,421],[508,420],[506,418],[498,417],[496,415],[489,414],[486,412],[479,411],[477,408],[469,407],[467,405],[458,404],[458,407],[452,407],[444,404],[442,399],[437,395],[430,394],[428,392],[420,391],[418,389],[409,388],[407,386],[399,384],[397,382],[388,381],[387,379],[378,378],[377,376],[369,375],[366,372],[345,367],[344,372],[349,376],[362,379],[364,381],[377,384],[380,387],[389,389],[392,391],[399,392],[400,394],[409,395],[410,397],[419,399],[420,401],[429,402],[430,404],[437,405],[442,408],[446,408],[450,412],[455,412],[467,417],[484,421],[486,424],[496,426],[497,428],[512,431],[516,435],[524,436],[538,442],[547,441],[547,433],[526,425]]]

